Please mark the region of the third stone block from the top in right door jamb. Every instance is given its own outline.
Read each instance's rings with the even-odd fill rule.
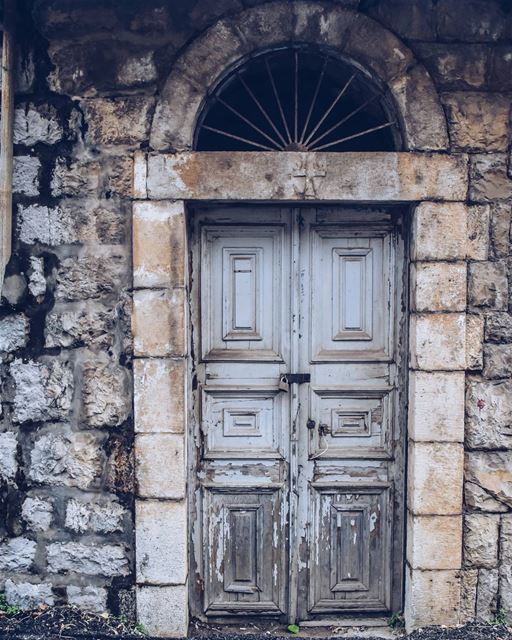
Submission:
[[[424,371],[457,371],[466,367],[466,316],[437,313],[411,316],[411,364]]]

